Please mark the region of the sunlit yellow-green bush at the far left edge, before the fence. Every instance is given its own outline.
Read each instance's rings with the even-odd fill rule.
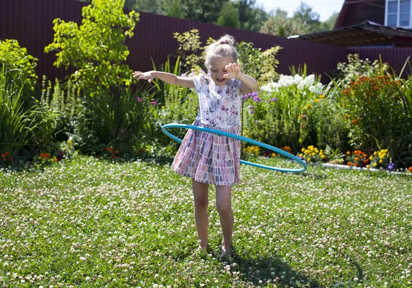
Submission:
[[[37,58],[27,54],[27,49],[20,47],[16,40],[0,40],[0,69],[5,67],[8,81],[16,87],[22,85],[34,91],[36,87],[36,61]]]

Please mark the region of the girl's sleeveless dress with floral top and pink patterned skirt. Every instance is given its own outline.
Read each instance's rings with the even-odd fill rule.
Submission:
[[[242,92],[240,80],[219,87],[211,78],[195,76],[199,110],[193,125],[239,134]],[[240,140],[197,131],[187,131],[172,169],[181,175],[216,186],[233,186],[240,181]]]

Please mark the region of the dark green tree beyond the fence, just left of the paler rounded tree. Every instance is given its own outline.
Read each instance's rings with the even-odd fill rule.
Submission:
[[[234,1],[238,9],[240,29],[260,31],[262,24],[268,19],[268,14],[262,9],[255,7],[255,0]]]

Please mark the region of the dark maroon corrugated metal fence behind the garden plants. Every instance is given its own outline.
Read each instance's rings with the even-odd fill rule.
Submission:
[[[27,48],[28,54],[38,58],[36,73],[40,79],[41,75],[52,80],[63,79],[71,71],[54,67],[55,53],[45,54],[44,48],[53,42],[53,20],[60,18],[80,25],[82,8],[85,5],[88,4],[75,0],[1,0],[0,39],[16,39],[21,47]],[[321,74],[323,80],[327,78],[324,73],[336,69],[336,64],[344,62],[348,53],[360,53],[362,58],[371,60],[382,54],[384,62],[389,62],[396,71],[400,71],[412,52],[412,48],[346,49],[140,12],[135,35],[126,40],[130,51],[126,63],[131,69],[146,71],[152,69],[152,57],[155,63],[160,65],[168,54],[176,52],[178,48],[173,33],[194,28],[199,30],[202,43],[206,43],[209,37],[218,38],[227,33],[233,35],[237,41],[253,42],[254,47],[262,50],[279,45],[283,47],[277,54],[279,73],[290,74],[289,67],[303,66],[306,63],[308,73]]]

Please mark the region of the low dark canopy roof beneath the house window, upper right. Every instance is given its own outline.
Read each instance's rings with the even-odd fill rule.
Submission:
[[[371,21],[364,21],[350,27],[291,36],[289,38],[342,47],[412,46],[412,30],[380,25]]]

